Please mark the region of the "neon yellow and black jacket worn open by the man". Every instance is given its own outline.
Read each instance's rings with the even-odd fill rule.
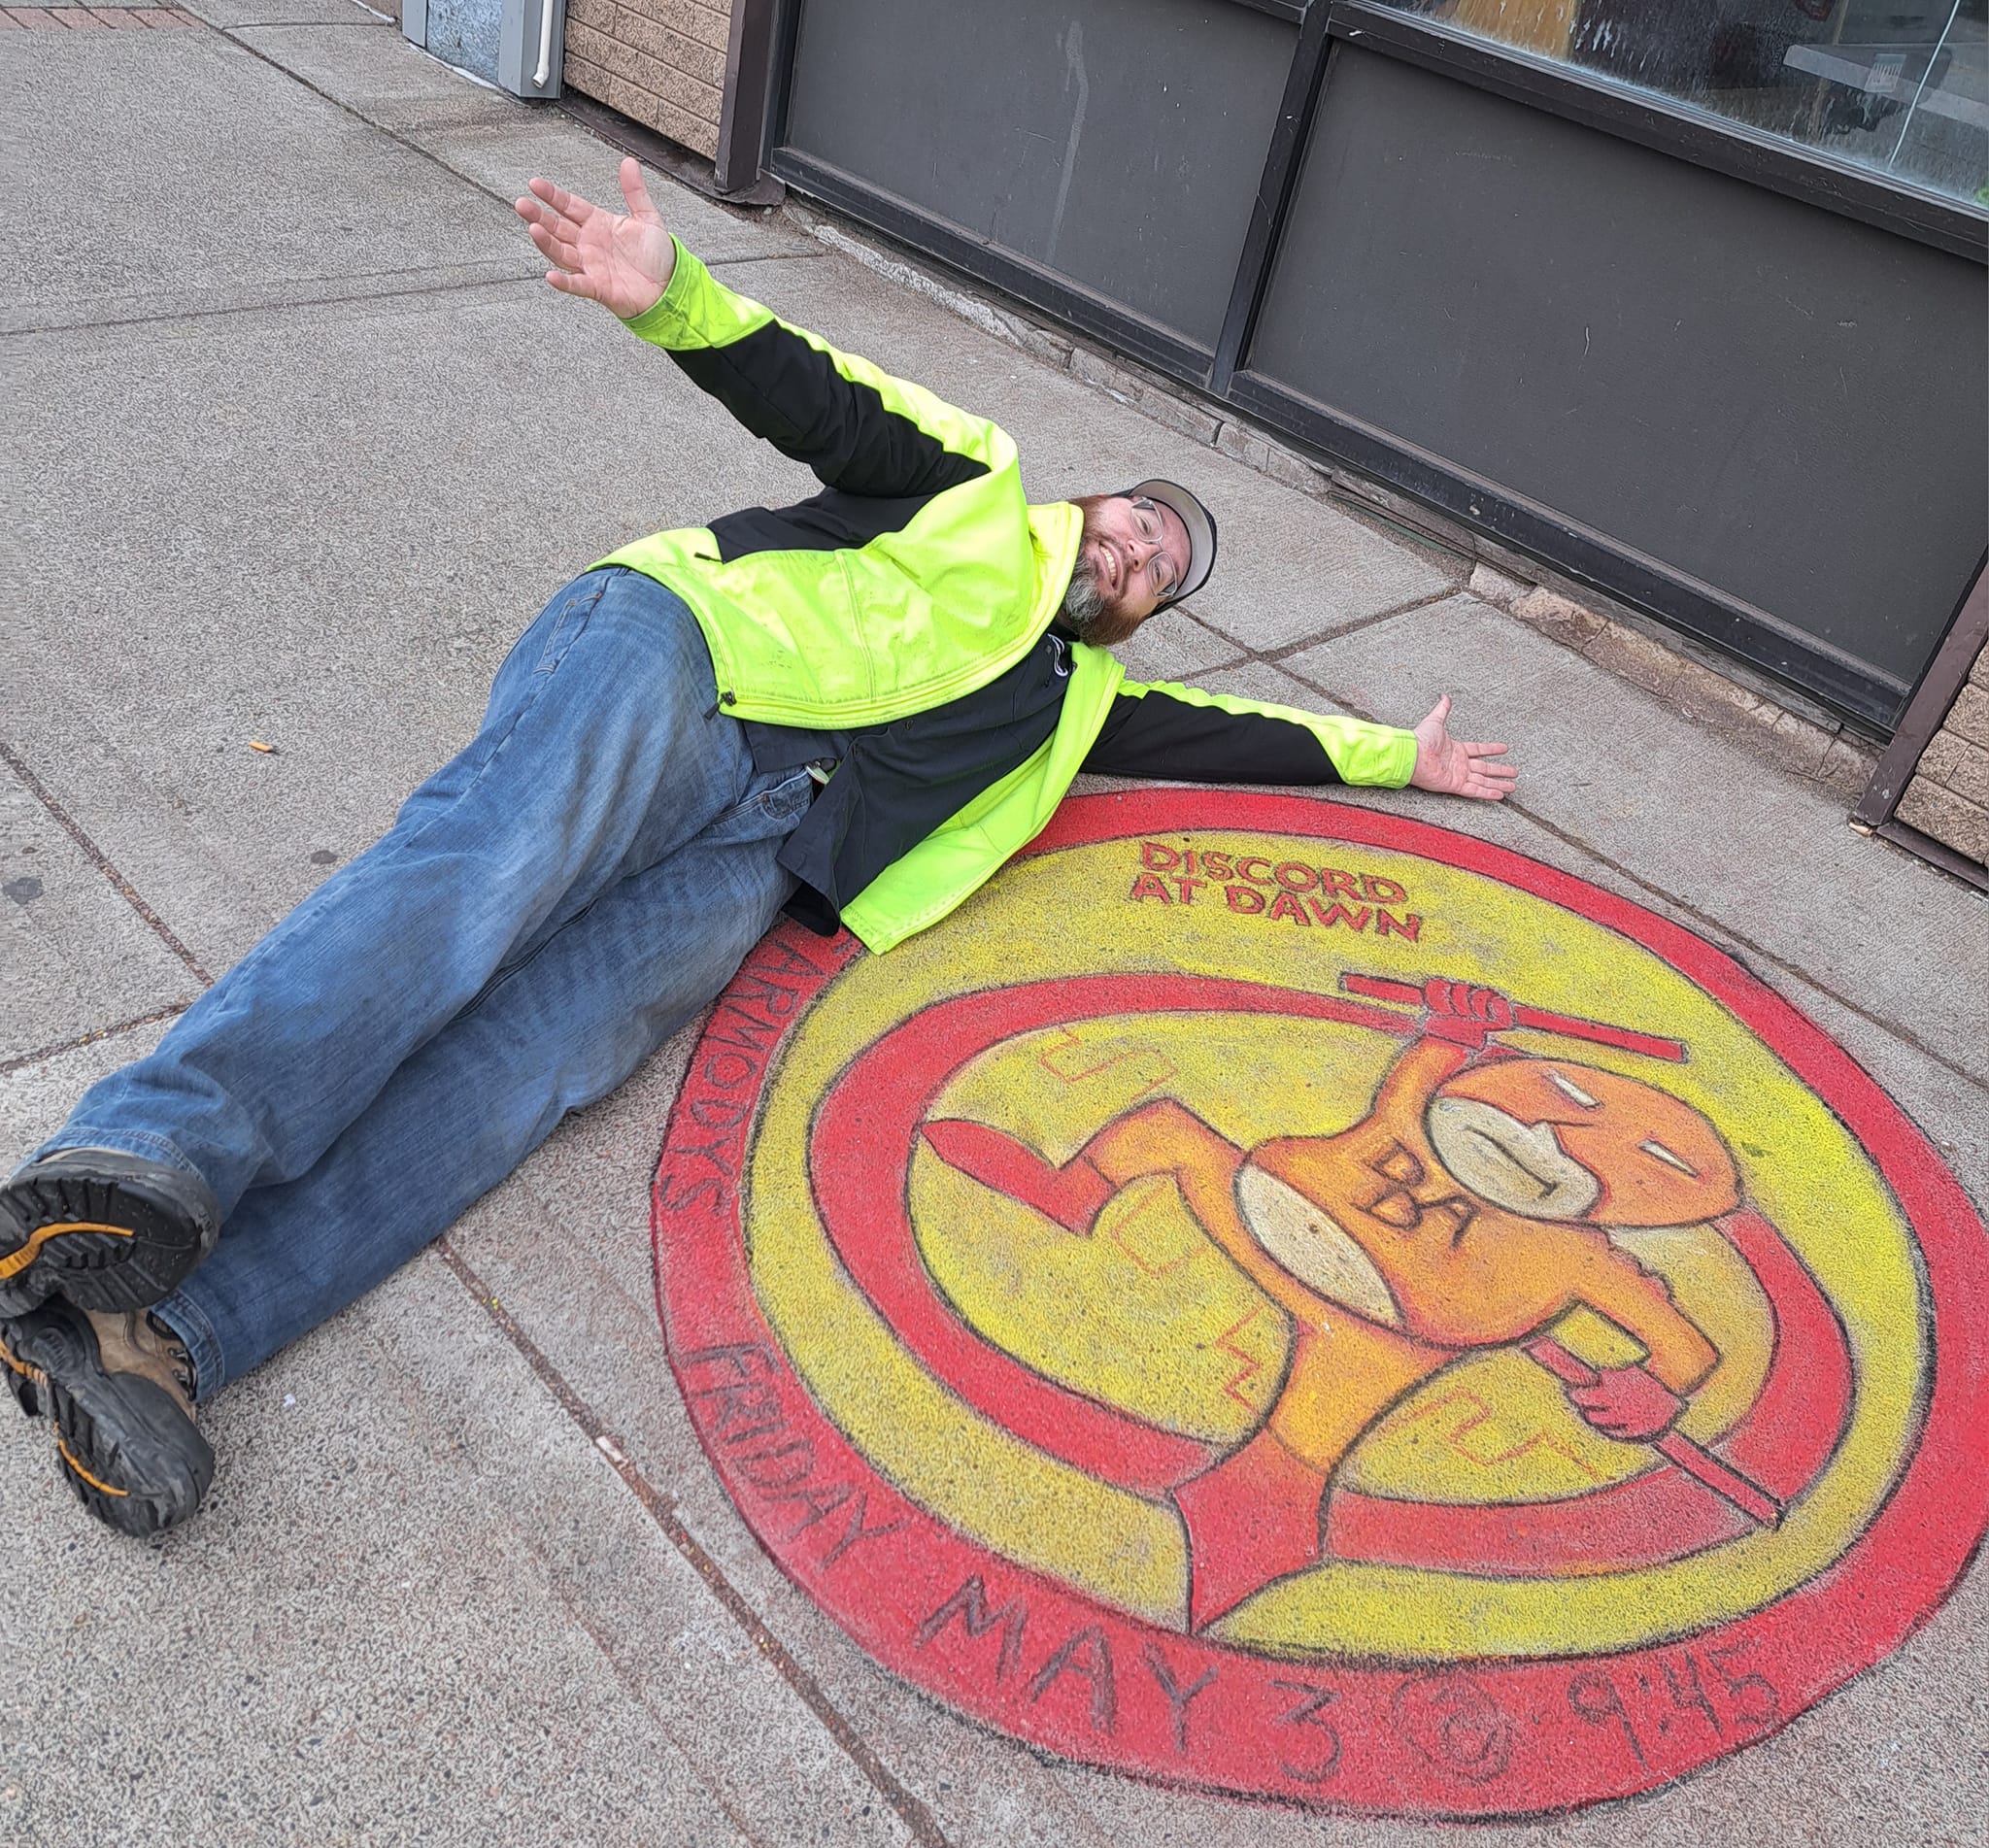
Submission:
[[[1028,505],[996,424],[788,326],[680,243],[670,286],[627,326],[823,483],[601,561],[690,605],[734,718],[837,730],[925,712],[1006,672],[1056,617],[1082,517]],[[885,951],[953,911],[1050,820],[1114,696],[1146,690],[1080,643],[1054,736],[845,901],[843,923]],[[1341,782],[1398,788],[1414,770],[1414,738],[1392,726],[1152,692],[1303,724]]]

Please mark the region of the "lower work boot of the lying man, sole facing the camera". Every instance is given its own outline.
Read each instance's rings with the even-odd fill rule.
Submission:
[[[0,1379],[54,1424],[62,1472],[103,1526],[159,1534],[201,1506],[215,1452],[193,1424],[193,1363],[143,1309],[54,1299],[0,1319]]]

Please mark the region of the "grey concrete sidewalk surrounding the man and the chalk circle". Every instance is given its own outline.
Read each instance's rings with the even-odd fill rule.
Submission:
[[[575,569],[812,487],[539,280],[509,199],[533,171],[613,197],[611,149],[352,0],[191,10],[6,40],[8,1162],[388,826]],[[1468,736],[1516,740],[1522,796],[1360,800],[1732,951],[1989,1200],[1989,907],[1852,833],[1816,764],[1778,768],[1472,595],[1454,551],[881,282],[796,213],[656,191],[732,286],[1000,420],[1032,497],[1146,473],[1207,493],[1223,571],[1124,650],[1134,672],[1390,722],[1452,690]],[[646,1190],[688,1042],[225,1394],[209,1512],[163,1546],[86,1522],[46,1430],[0,1418],[0,1838],[1448,1838],[1036,1756],[782,1577],[698,1448],[652,1303]],[[1973,1840],[1985,1663],[1977,1566],[1764,1745],[1474,1838]]]

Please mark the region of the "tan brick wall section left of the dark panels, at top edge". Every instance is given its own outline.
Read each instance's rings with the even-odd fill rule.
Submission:
[[[730,30],[732,0],[567,0],[565,82],[710,159]]]

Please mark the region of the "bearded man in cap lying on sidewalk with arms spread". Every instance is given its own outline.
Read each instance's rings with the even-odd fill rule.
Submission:
[[[1498,800],[1502,744],[1134,686],[1201,589],[1181,487],[1030,507],[983,418],[531,181],[547,282],[664,348],[823,491],[656,533],[561,591],[469,748],[0,1196],[0,1377],[99,1520],[195,1512],[207,1398],[372,1289],[704,1009],[788,907],[887,951],[1080,770]]]

